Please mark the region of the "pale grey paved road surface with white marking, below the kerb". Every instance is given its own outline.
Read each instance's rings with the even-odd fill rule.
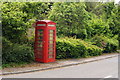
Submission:
[[[23,74],[5,75],[3,78],[118,78],[118,57]]]

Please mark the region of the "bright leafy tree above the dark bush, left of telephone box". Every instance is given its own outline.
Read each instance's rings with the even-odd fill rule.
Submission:
[[[13,43],[26,43],[27,30],[36,19],[47,18],[52,3],[4,2],[2,4],[3,36]]]

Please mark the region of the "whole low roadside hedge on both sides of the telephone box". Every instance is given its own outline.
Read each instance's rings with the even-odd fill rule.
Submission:
[[[91,42],[74,38],[57,38],[57,59],[81,58],[99,56],[103,52],[114,52],[118,48],[118,41],[103,36],[95,36]],[[33,49],[28,45],[13,44],[2,38],[2,63],[30,62],[34,60]]]

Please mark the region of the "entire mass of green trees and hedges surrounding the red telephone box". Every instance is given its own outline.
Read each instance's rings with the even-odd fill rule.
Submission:
[[[1,10],[3,63],[33,60],[36,19],[57,23],[57,58],[97,56],[120,45],[120,6],[113,2],[3,2]]]

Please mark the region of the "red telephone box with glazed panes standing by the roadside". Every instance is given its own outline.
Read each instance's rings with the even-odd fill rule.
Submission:
[[[35,27],[35,60],[38,62],[54,62],[56,57],[56,23],[40,20]]]

